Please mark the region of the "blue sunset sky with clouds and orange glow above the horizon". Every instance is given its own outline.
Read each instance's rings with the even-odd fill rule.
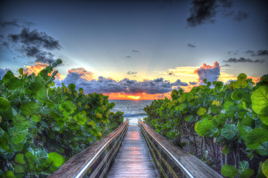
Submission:
[[[2,1],[0,77],[60,58],[55,86],[152,100],[268,73],[268,2]]]

